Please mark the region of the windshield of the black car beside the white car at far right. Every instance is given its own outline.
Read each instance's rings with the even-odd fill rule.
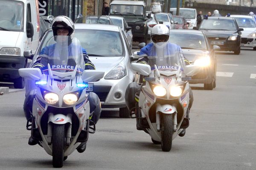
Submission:
[[[236,31],[237,28],[234,20],[211,19],[203,20],[200,29]]]

